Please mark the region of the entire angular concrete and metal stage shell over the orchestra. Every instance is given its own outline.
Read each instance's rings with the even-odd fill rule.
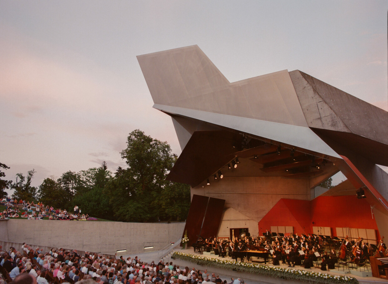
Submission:
[[[343,208],[327,208],[353,222],[344,218],[337,226],[376,229],[376,239],[388,235],[388,174],[377,166],[388,166],[386,111],[299,70],[230,83],[197,45],[137,59],[154,108],[171,116],[182,148],[168,178],[191,185],[192,196],[213,198],[205,203],[225,200],[217,203],[222,204],[220,220],[213,224],[218,236],[230,236],[231,228],[261,234],[260,222],[268,214],[274,226],[302,230],[298,224],[314,222],[312,216],[287,211],[306,219],[291,224],[271,209],[281,199],[307,204],[319,198],[314,188],[338,171],[348,178],[346,195],[353,191],[350,206],[368,204],[373,214],[347,216]],[[351,198],[359,189],[366,198]],[[314,211],[315,205],[306,206]],[[360,218],[363,225],[357,227]],[[331,227],[330,221],[318,218],[303,231]],[[204,233],[203,222],[197,223],[186,226],[191,241]]]

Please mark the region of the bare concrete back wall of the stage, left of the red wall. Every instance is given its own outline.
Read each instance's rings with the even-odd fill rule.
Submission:
[[[258,222],[280,199],[309,200],[310,183],[307,179],[224,175],[219,182],[192,188],[193,194],[225,199],[224,210],[229,209],[223,212],[218,236],[229,236],[229,228],[249,228],[257,236]]]

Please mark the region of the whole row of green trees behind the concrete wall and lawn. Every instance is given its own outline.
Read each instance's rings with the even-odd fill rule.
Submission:
[[[97,218],[125,222],[184,220],[190,207],[190,187],[166,180],[177,160],[170,145],[138,129],[129,134],[126,144],[120,154],[127,168],[118,167],[114,174],[104,161],[98,168],[45,178],[35,188],[31,186],[35,170],[31,170],[26,176],[18,173],[16,182],[0,179],[0,189],[8,185],[14,190],[13,198],[41,201],[69,212],[77,205],[82,213]],[[8,167],[0,163],[1,168]],[[0,171],[0,178],[4,176]]]

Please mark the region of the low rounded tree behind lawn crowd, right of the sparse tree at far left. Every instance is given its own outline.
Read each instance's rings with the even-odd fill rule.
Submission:
[[[37,193],[38,200],[43,204],[62,209],[66,208],[72,197],[54,178],[45,178]]]

